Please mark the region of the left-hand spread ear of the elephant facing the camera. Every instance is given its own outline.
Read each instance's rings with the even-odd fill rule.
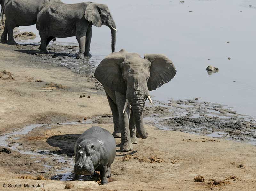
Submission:
[[[124,82],[121,64],[125,56],[117,56],[112,53],[104,58],[96,68],[94,76],[103,85],[115,90],[116,92],[126,94],[126,84]]]

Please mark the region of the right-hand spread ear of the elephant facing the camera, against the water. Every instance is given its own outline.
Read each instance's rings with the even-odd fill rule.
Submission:
[[[148,90],[156,90],[174,78],[176,68],[172,61],[163,54],[144,54],[144,58],[151,62]]]

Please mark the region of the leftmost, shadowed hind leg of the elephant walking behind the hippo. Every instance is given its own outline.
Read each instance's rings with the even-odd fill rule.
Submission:
[[[107,92],[106,92],[106,95],[107,95],[108,103],[109,103],[109,106],[110,106],[110,108],[111,108],[112,115],[113,115],[114,132],[112,133],[112,135],[114,136],[114,138],[120,138],[120,137],[121,137],[121,131],[120,131],[120,128],[119,128],[117,106],[116,106],[116,104],[113,102],[113,100],[109,97],[109,95],[107,94]]]

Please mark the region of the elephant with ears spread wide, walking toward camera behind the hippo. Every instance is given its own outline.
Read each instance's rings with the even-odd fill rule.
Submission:
[[[120,137],[121,132],[121,151],[130,151],[132,144],[138,143],[136,129],[142,139],[148,137],[143,109],[146,99],[152,103],[149,91],[169,82],[175,74],[172,61],[162,54],[145,54],[141,58],[122,49],[100,62],[94,75],[105,89],[113,114],[113,136]]]

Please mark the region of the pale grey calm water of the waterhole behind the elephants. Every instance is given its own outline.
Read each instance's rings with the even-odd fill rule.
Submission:
[[[65,3],[82,0],[63,0]],[[234,107],[237,112],[256,116],[254,0],[98,0],[108,4],[116,21],[116,51],[163,53],[172,59],[177,75],[159,90],[157,100],[193,99]],[[251,5],[251,6],[249,6]],[[21,27],[33,31],[35,26]],[[91,53],[94,62],[110,53],[110,30],[93,27]],[[39,37],[32,40],[36,43]],[[76,39],[57,39],[61,43]],[[229,43],[227,43],[229,42]],[[95,57],[97,59],[95,60]],[[231,60],[228,60],[228,57]],[[206,67],[220,71],[208,75]],[[235,82],[234,82],[235,81]]]

